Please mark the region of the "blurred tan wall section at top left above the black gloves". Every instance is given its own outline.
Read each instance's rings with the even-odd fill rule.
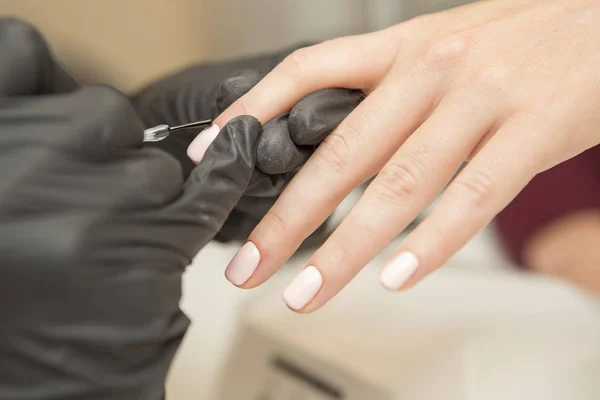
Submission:
[[[131,91],[207,57],[202,0],[0,0],[1,15],[36,25],[83,81]]]

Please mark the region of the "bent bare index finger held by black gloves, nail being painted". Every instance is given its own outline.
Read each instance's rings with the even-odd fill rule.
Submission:
[[[370,89],[391,68],[397,42],[388,29],[296,50],[215,123],[225,126],[239,115],[252,115],[264,124],[320,89]]]

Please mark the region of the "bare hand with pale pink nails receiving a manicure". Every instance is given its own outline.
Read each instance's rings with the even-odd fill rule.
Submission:
[[[284,293],[296,311],[338,293],[448,186],[381,275],[410,287],[537,173],[600,142],[600,4],[494,0],[300,50],[216,121],[266,122],[307,93],[367,99],[320,145],[228,267],[267,280],[355,187],[360,202]]]

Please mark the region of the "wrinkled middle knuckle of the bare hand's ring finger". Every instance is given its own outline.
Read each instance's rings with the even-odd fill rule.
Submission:
[[[386,203],[404,203],[406,199],[414,198],[419,182],[415,166],[391,161],[377,176],[375,194]]]

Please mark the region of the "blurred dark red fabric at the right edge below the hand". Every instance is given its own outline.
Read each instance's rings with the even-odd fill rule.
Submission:
[[[527,240],[544,225],[577,210],[599,207],[600,146],[596,146],[536,176],[496,217],[496,227],[509,254],[522,264]]]

